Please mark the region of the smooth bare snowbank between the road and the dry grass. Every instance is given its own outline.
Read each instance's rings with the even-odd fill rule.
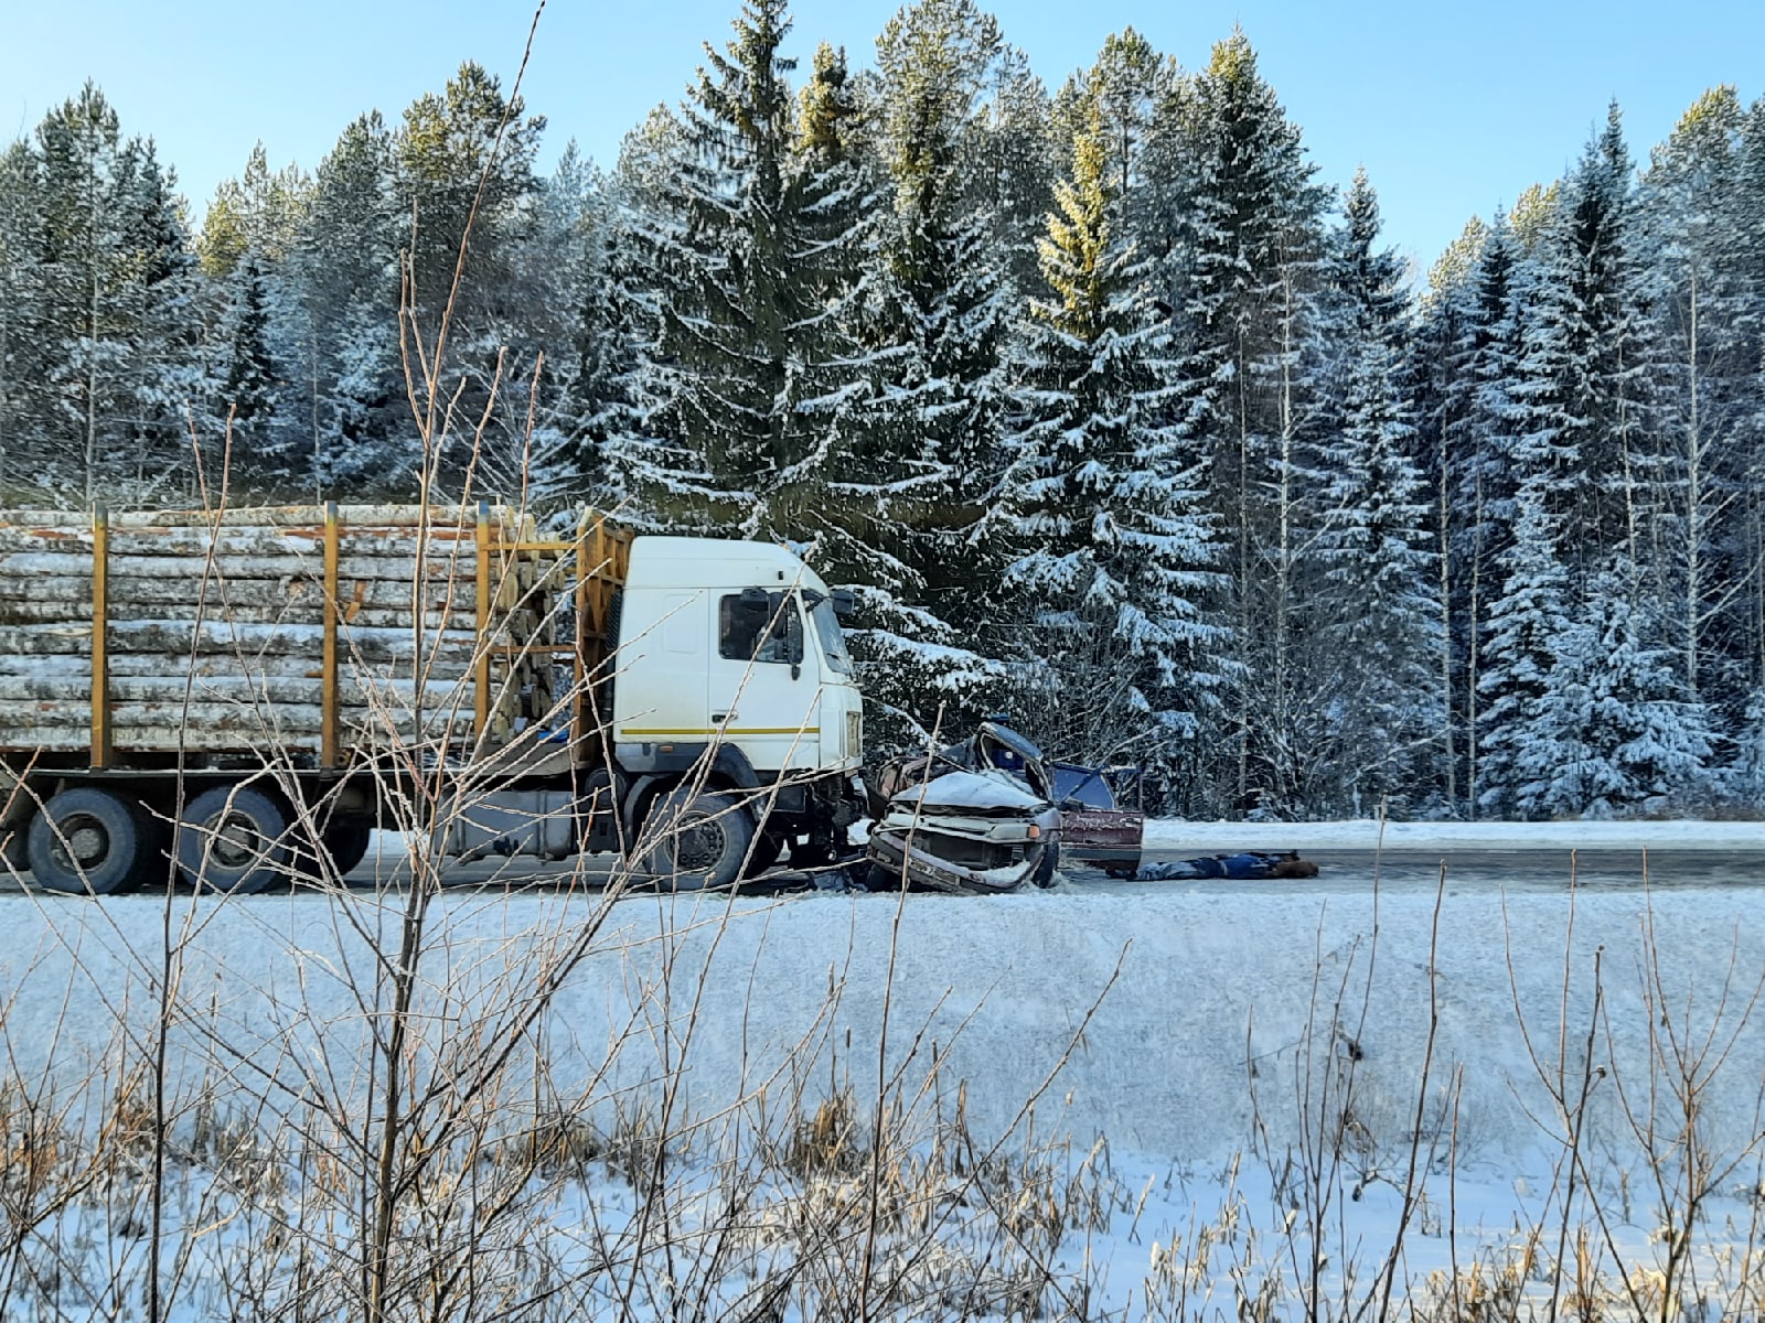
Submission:
[[[365,896],[341,901],[353,907],[348,916],[318,896],[176,901],[178,926],[185,912],[192,919],[182,986],[199,1000],[173,1035],[184,1088],[217,1087],[208,1078],[217,1058],[238,1081],[219,1087],[242,1095],[263,1092],[259,1069],[291,1081],[323,1064],[330,1078],[358,1078],[369,1016],[357,990],[376,979],[364,935],[395,940],[395,900],[385,910]],[[115,1058],[118,1027],[139,1051],[162,903],[5,905],[0,1039],[18,1069],[78,1078]],[[424,965],[436,1023],[445,1011],[450,1032],[464,1032],[530,995],[535,972],[595,905],[591,894],[443,896]],[[1654,997],[1696,1034],[1717,1025],[1724,1041],[1737,1035],[1709,1083],[1705,1124],[1712,1145],[1751,1132],[1765,1060],[1765,1023],[1742,1025],[1765,975],[1756,891],[1451,894],[1433,958],[1431,926],[1426,894],[1183,884],[1133,896],[909,896],[900,907],[865,894],[632,898],[612,908],[542,1039],[563,1094],[642,1097],[664,1060],[685,1055],[687,1097],[701,1113],[762,1085],[814,1099],[849,1080],[865,1099],[879,1055],[911,1094],[935,1055],[941,1087],[953,1095],[965,1085],[980,1134],[1008,1129],[1052,1078],[1040,1132],[1066,1127],[1082,1143],[1107,1134],[1119,1150],[1202,1161],[1258,1134],[1297,1140],[1317,1125],[1308,1108],[1322,1106],[1324,1085],[1350,1076],[1366,1143],[1401,1145],[1414,1129],[1433,995],[1424,1125],[1447,1124],[1446,1087],[1456,1078],[1458,1154],[1476,1161],[1539,1141],[1534,1117],[1553,1108],[1534,1058],[1585,1055],[1590,1032],[1601,1067],[1643,1097],[1650,1032],[1664,1023]],[[891,960],[890,1043],[879,1053]],[[1617,1090],[1597,1094],[1601,1143],[1624,1143],[1619,1108]]]

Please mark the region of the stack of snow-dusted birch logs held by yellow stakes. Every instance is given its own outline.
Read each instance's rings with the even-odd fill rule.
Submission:
[[[118,751],[335,757],[565,723],[547,644],[568,591],[537,542],[499,506],[0,510],[0,748],[97,750],[102,723]]]

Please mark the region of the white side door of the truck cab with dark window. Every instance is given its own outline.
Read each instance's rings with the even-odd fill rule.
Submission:
[[[711,725],[755,771],[812,769],[821,759],[819,658],[805,647],[794,591],[718,593],[711,656]]]

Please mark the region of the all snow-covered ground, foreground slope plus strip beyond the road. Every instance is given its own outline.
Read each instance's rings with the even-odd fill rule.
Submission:
[[[1280,831],[1356,848],[1368,829]],[[1283,845],[1243,824],[1156,831],[1193,852]],[[1463,827],[1426,831],[1403,848],[1467,848],[1449,840]],[[1758,824],[1627,833],[1594,840],[1765,840]],[[1481,840],[1543,850],[1541,834]],[[533,1304],[510,1307],[522,1318],[653,1316],[669,1291],[710,1318],[768,1300],[778,1312],[759,1316],[815,1318],[849,1309],[858,1281],[879,1318],[1008,1316],[1031,1297],[1075,1318],[1378,1312],[1387,1267],[1423,1318],[1551,1295],[1659,1316],[1663,1291],[1751,1312],[1760,896],[448,893],[406,1020],[417,1043],[395,1053],[424,1120],[394,1168],[432,1166],[394,1238],[418,1258],[477,1238],[499,1298]],[[399,901],[180,898],[168,930],[143,896],[0,900],[7,1189],[34,1090],[39,1131],[51,1095],[67,1108],[58,1152],[136,1132],[171,968],[175,1316],[247,1297],[293,1316],[314,1247],[346,1261],[371,1238],[371,1044],[395,1021],[379,954]],[[496,1221],[508,1166],[487,1154],[535,1117],[586,1138],[568,1162],[515,1164],[521,1198]],[[424,1145],[441,1157],[413,1159]],[[26,1275],[0,1277],[0,1314],[94,1316],[85,1282],[109,1279],[141,1298],[148,1184],[131,1171],[19,1240]],[[53,1289],[32,1286],[49,1263]]]

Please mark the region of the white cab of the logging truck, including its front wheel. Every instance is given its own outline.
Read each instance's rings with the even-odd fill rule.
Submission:
[[[863,700],[847,593],[785,547],[639,536],[612,621],[607,767],[586,848],[676,887],[724,886],[789,850],[833,863],[861,815]]]

